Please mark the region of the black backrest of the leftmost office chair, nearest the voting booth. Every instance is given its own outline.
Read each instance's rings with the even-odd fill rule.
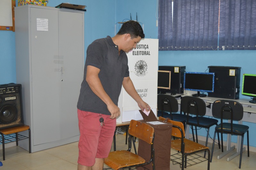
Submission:
[[[158,110],[176,113],[179,110],[179,104],[175,97],[171,95],[159,94],[157,95],[157,108]]]

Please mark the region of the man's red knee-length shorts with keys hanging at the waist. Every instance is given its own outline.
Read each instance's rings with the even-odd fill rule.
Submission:
[[[95,158],[107,158],[110,152],[116,129],[116,119],[110,115],[85,112],[77,109],[80,139],[78,143],[79,155],[77,163],[93,166]],[[100,125],[100,115],[105,125]]]

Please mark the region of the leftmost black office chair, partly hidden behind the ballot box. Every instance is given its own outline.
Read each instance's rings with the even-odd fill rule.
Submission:
[[[179,104],[175,97],[165,94],[157,95],[157,108],[158,117],[171,118],[171,120],[182,122],[184,127],[186,127],[187,115],[177,113]],[[165,111],[170,112],[170,114]]]

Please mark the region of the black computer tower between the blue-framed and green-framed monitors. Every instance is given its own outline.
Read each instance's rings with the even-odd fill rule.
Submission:
[[[239,99],[241,67],[208,66],[210,73],[215,73],[214,92],[209,97]]]

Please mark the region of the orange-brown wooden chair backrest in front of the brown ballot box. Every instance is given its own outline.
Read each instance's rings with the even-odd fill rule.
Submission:
[[[154,128],[137,120],[131,120],[128,132],[148,144],[151,144],[154,138]]]

